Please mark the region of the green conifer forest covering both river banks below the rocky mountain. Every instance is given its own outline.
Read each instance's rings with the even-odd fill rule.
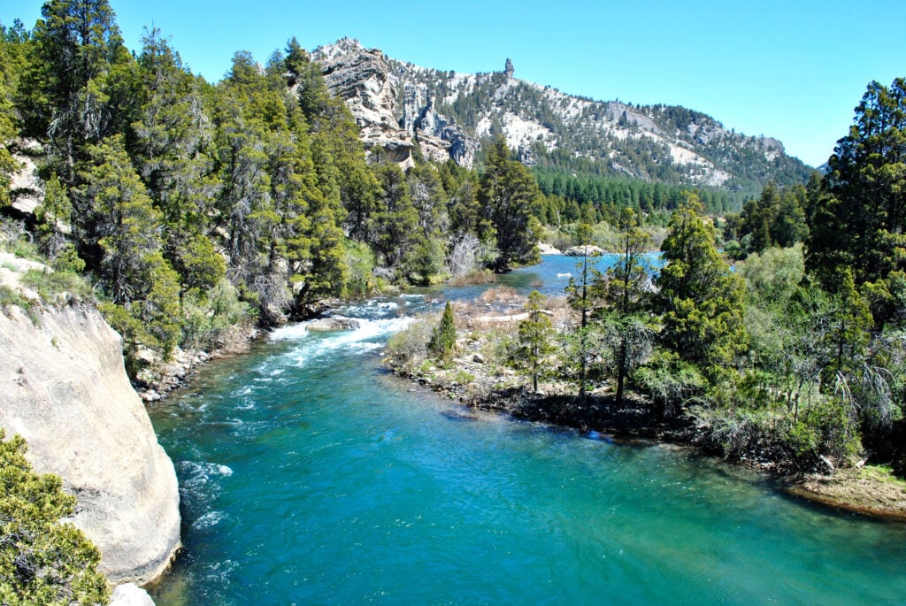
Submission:
[[[573,281],[576,326],[554,336],[532,313],[537,325],[512,351],[556,357],[542,341],[562,338],[566,353],[544,368],[581,397],[602,384],[618,400],[634,390],[697,418],[729,456],[773,449],[799,469],[821,457],[901,461],[902,80],[869,85],[824,177],[805,182],[791,167],[734,215],[732,198],[675,179],[573,176],[544,159],[532,172],[499,136],[480,169],[403,171],[379,149],[366,158],[294,39],[264,64],[236,53],[212,84],[157,30],[126,49],[103,0],[54,0],[42,15],[32,30],[0,29],[4,245],[53,267],[32,276],[39,292],[98,302],[133,376],[149,352],[216,348],[237,325],[506,272],[536,262],[545,238],[596,241],[622,260],[606,274],[585,265]],[[707,121],[636,110],[678,132]],[[23,162],[39,191],[12,187]],[[23,210],[29,196],[40,204]],[[658,272],[642,255],[659,245],[651,236],[662,238]],[[537,362],[521,368],[535,375]]]

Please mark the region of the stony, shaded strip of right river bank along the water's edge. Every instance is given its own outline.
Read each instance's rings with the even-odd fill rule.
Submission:
[[[385,363],[396,374],[458,400],[472,409],[495,411],[512,418],[574,428],[595,438],[613,441],[648,439],[715,452],[707,428],[686,416],[665,416],[653,402],[637,393],[627,394],[622,405],[609,390],[592,392],[584,400],[562,382],[542,382],[538,392],[525,378],[501,366],[488,351],[483,332],[515,333],[525,314],[516,313],[516,298],[501,289],[489,292],[485,302],[459,303],[456,309],[458,355],[448,362],[400,363],[392,356]],[[487,307],[495,313],[488,314]],[[563,302],[548,305],[554,322],[565,322]],[[837,510],[884,520],[906,521],[906,481],[892,470],[877,466],[835,468],[831,473],[785,474],[776,461],[759,453],[728,463],[751,467],[774,477],[788,494]]]

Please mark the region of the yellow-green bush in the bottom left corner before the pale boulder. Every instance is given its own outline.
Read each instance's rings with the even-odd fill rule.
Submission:
[[[110,600],[98,572],[101,553],[82,531],[61,519],[75,511],[60,478],[39,476],[19,436],[0,429],[0,602],[102,604]]]

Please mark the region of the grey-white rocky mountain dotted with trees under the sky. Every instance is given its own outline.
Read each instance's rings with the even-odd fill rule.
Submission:
[[[400,163],[471,166],[502,132],[528,166],[586,176],[754,191],[804,182],[810,168],[768,137],[748,137],[699,111],[593,101],[502,72],[442,72],[392,59],[344,38],[313,51],[324,80],[348,104],[369,149]]]

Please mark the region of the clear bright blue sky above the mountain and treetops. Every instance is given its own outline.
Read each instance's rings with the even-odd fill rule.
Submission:
[[[40,16],[0,0],[0,21]],[[784,142],[817,166],[846,134],[872,80],[906,77],[906,0],[396,2],[111,0],[130,48],[142,27],[172,39],[217,82],[238,50],[264,62],[291,36],[308,49],[358,38],[441,70],[500,71],[608,101],[704,111],[727,128]]]

